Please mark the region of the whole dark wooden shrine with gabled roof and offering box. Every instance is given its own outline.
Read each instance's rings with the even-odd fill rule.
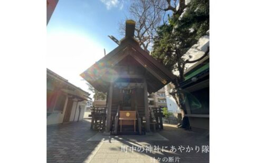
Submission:
[[[107,92],[106,112],[100,119],[106,133],[143,135],[153,130],[151,124],[162,121],[153,120],[148,93],[158,91],[176,77],[140,47],[134,37],[134,21],[126,21],[125,32],[116,49],[80,75],[98,91]]]

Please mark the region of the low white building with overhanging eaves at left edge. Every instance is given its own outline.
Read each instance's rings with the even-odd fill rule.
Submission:
[[[89,93],[47,69],[47,125],[83,119]]]

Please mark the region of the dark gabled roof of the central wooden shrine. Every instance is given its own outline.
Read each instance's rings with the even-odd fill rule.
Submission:
[[[131,24],[129,24],[128,27],[132,27]],[[134,32],[129,29],[126,29],[126,31],[129,31],[129,34],[126,34],[126,37],[121,40],[120,45],[80,74],[82,78],[88,81],[98,91],[106,92],[109,87],[109,82],[106,82],[106,80],[102,78],[108,75],[115,75],[111,72],[111,69],[130,55],[145,68],[145,78],[149,93],[156,92],[167,83],[174,81],[176,79],[175,75],[167,70],[164,65],[157,62],[148,52],[141,49],[138,41],[134,38],[133,34],[131,35],[131,33]]]

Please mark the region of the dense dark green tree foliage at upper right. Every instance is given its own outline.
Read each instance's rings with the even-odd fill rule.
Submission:
[[[184,80],[183,55],[200,37],[208,35],[209,1],[192,0],[181,15],[168,15],[168,24],[158,27],[151,55],[171,71],[179,71],[179,82]]]

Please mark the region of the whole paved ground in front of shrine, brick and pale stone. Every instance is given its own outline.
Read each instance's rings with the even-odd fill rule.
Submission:
[[[98,141],[92,138],[101,133],[90,130],[90,120],[48,127],[47,162],[209,162],[207,135],[168,124],[158,133],[168,140],[119,136]]]

